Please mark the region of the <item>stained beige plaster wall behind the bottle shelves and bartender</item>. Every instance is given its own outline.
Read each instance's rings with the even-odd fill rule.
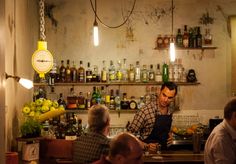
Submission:
[[[52,19],[46,19],[46,35],[48,48],[54,54],[57,64],[61,60],[90,62],[91,65],[101,66],[102,60],[117,61],[127,59],[128,64],[140,61],[143,64],[162,64],[168,62],[167,51],[154,50],[158,34],[171,34],[171,15],[169,12],[171,1],[163,0],[137,0],[133,15],[128,24],[112,29],[99,23],[100,45],[94,47],[92,43],[92,26],[94,13],[90,1],[53,1],[55,5],[52,16],[57,20],[57,26],[52,24]],[[123,21],[122,14],[130,11],[131,0],[97,2],[97,14],[106,24],[115,26]],[[204,51],[177,51],[177,58],[182,59],[186,70],[193,68],[196,71],[198,86],[181,86],[181,111],[180,113],[203,113],[208,117],[223,114],[225,103],[231,98],[231,39],[227,28],[227,18],[235,15],[236,1],[233,0],[176,0],[174,1],[174,34],[177,28],[183,30],[188,27],[201,26],[204,34],[205,27],[199,24],[199,18],[209,11],[214,18],[210,25],[213,35],[213,45],[216,50]],[[166,12],[162,14],[160,11]],[[127,37],[127,28],[131,28],[133,37]],[[84,64],[85,66],[86,64]],[[57,88],[58,92],[67,95],[69,87]],[[129,96],[137,93],[143,94],[144,88],[125,87]],[[140,92],[140,90],[142,92]],[[77,88],[83,91],[83,88]],[[140,95],[139,95],[140,96]],[[82,116],[86,120],[86,116]],[[124,116],[125,117],[125,116]],[[128,115],[131,119],[132,115]],[[122,117],[123,118],[123,117]],[[119,122],[126,122],[120,119]]]

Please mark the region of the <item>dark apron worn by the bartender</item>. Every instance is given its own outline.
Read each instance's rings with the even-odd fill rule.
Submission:
[[[170,115],[157,115],[151,134],[143,140],[145,143],[161,144],[161,149],[167,148],[167,139],[172,123],[172,114]]]

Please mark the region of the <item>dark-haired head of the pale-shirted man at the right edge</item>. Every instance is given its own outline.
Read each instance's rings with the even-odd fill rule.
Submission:
[[[236,130],[236,99],[230,100],[224,108],[224,118]]]

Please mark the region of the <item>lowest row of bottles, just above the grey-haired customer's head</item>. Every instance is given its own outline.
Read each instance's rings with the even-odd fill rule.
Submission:
[[[94,86],[92,91],[76,92],[74,87],[70,88],[70,92],[64,96],[62,93],[55,92],[54,87],[50,87],[47,95],[48,99],[57,100],[59,105],[63,105],[66,109],[86,110],[95,104],[103,104],[110,110],[120,109],[141,109],[145,103],[156,99],[157,86],[146,86],[146,93],[140,97],[129,96],[126,92],[121,93],[119,89],[109,89],[104,86]],[[43,88],[38,89],[39,92],[46,92]],[[42,97],[41,97],[42,98]],[[45,97],[44,97],[45,98]]]

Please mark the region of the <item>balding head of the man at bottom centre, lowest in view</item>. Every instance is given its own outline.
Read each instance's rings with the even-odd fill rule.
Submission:
[[[112,164],[139,164],[142,148],[138,139],[130,133],[121,133],[110,143],[109,158]]]

